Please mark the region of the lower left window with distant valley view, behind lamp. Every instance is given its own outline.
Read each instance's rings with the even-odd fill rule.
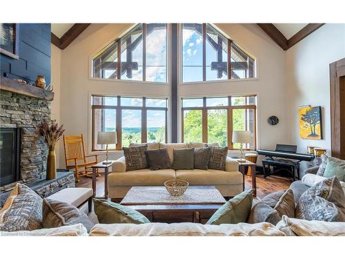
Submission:
[[[92,151],[106,148],[97,144],[99,131],[117,131],[112,150],[130,143],[166,142],[167,110],[167,99],[93,95]]]

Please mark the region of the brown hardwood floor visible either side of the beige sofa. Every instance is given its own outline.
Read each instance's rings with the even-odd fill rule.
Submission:
[[[251,176],[245,176],[245,186],[246,189],[251,188],[252,179]],[[286,190],[290,186],[292,180],[290,178],[284,178],[280,176],[269,176],[264,178],[263,175],[257,175],[257,198],[262,199],[269,193],[274,193],[275,191]],[[77,187],[88,187],[92,188],[92,179],[82,177],[80,182],[76,183]],[[96,196],[104,195],[104,175],[101,173],[101,176],[97,177],[96,182],[97,193]]]

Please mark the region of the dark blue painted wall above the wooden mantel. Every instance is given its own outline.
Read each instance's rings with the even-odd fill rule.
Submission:
[[[1,54],[1,76],[21,78],[29,83],[37,75],[50,84],[50,23],[19,23],[19,59]]]

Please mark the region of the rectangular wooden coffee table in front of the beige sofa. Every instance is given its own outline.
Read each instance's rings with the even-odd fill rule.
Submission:
[[[177,197],[164,186],[133,186],[121,205],[139,211],[150,222],[205,224],[225,202],[215,186],[188,186],[186,193]]]

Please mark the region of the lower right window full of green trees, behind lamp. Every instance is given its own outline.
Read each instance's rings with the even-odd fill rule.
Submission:
[[[182,99],[182,142],[217,142],[230,149],[233,131],[250,131],[244,148],[256,147],[256,97],[202,97]]]

